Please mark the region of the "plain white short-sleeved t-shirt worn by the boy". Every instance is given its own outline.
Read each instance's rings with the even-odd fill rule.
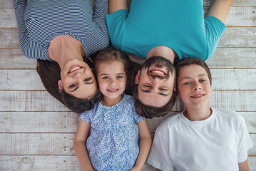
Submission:
[[[163,120],[155,132],[148,164],[160,170],[239,170],[252,140],[241,115],[212,108],[206,120],[183,113]]]

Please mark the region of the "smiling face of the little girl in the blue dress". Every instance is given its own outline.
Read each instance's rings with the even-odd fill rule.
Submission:
[[[103,101],[121,100],[121,94],[126,89],[126,71],[124,71],[123,63],[118,61],[101,63],[98,65],[97,71],[98,85],[103,94]]]

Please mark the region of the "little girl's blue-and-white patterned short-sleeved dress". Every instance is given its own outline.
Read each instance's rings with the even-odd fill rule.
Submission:
[[[135,113],[130,95],[111,107],[96,103],[79,115],[91,123],[86,147],[94,170],[130,170],[139,152],[138,125],[144,118]]]

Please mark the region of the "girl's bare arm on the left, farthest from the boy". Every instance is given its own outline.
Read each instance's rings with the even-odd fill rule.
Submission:
[[[83,170],[93,170],[91,161],[86,149],[86,140],[91,127],[91,123],[86,123],[84,120],[79,121],[78,128],[76,130],[76,137],[73,142],[73,147],[76,151],[76,156],[83,167]]]

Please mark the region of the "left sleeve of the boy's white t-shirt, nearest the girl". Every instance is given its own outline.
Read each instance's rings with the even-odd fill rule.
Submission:
[[[147,162],[149,165],[152,165],[159,170],[173,171],[175,170],[175,167],[168,151],[169,140],[160,134],[162,131],[164,130],[160,130],[158,128],[155,132],[155,137],[150,149],[150,153],[148,155]]]

